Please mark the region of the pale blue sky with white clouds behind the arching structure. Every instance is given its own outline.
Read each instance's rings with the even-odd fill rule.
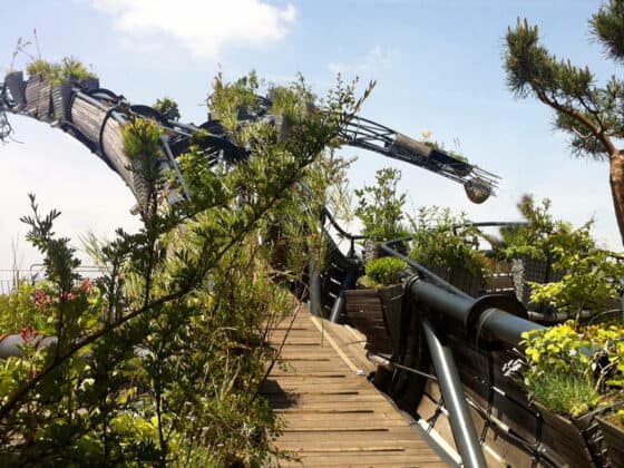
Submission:
[[[338,72],[377,80],[361,116],[419,138],[459,149],[501,177],[496,197],[471,204],[464,188],[436,174],[373,153],[357,156],[352,187],[371,184],[382,167],[402,172],[408,211],[450,206],[474,221],[516,221],[525,193],[548,197],[557,217],[576,225],[596,220],[595,236],[621,250],[605,163],[575,159],[567,137],[553,131],[553,114],[506,88],[504,38],[517,18],[538,25],[559,57],[587,65],[598,82],[622,70],[592,40],[589,0],[21,0],[2,7],[0,70],[11,65],[18,38],[37,30],[42,58],[74,56],[99,75],[103,87],[135,104],[170,96],[182,119],[206,119],[212,79],[250,70],[276,84],[303,74],[322,95]],[[36,55],[36,48],[30,48]],[[14,68],[29,58],[19,55]],[[19,143],[0,145],[0,270],[28,270],[40,256],[25,241],[28,193],[41,209],[61,211],[57,232],[80,248],[89,232],[110,237],[135,230],[130,192],[78,142],[25,117],[11,117]],[[455,143],[454,143],[455,142]],[[357,225],[352,225],[357,228]],[[88,259],[85,260],[88,264]]]

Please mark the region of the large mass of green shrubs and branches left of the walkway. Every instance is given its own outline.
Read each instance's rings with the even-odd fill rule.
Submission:
[[[192,147],[181,160],[192,199],[174,206],[162,203],[170,183],[158,170],[157,125],[130,121],[123,136],[143,181],[143,226],[91,242],[95,284],[74,273],[75,251],[53,233],[59,213],[39,214],[32,198],[23,221],[48,280],[35,290],[45,294],[32,292],[33,324],[51,316],[59,342],[38,350],[41,330],[27,325],[23,357],[0,362],[0,465],[267,464],[281,422],[259,393],[276,359],[263,340],[298,305],[274,280],[293,282],[305,256],[322,256],[320,206],[342,170],[325,148],[359,106],[352,91],[339,85],[285,139],[267,124],[233,128],[233,138],[247,133],[252,155],[227,170],[211,174]],[[283,271],[264,242],[276,220],[299,242]]]

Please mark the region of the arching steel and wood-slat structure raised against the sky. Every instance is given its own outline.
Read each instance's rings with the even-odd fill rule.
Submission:
[[[272,103],[269,98],[259,96],[257,99],[260,113],[240,111],[240,120],[243,125],[256,119],[283,121],[281,116],[270,114]],[[127,169],[123,149],[111,147],[110,143],[115,137],[114,134],[119,133],[120,127],[130,118],[154,119],[162,127],[165,135],[163,149],[166,155],[166,159],[162,162],[163,166],[178,173],[185,196],[188,196],[188,193],[177,168],[176,157],[188,148],[193,134],[199,130],[207,133],[207,136],[202,139],[202,148],[208,158],[235,160],[248,155],[246,148],[232,143],[218,120],[208,118],[206,123],[196,126],[169,119],[149,106],[133,105],[124,96],[99,88],[97,80],[90,80],[81,86],[68,84],[55,88],[40,77],[23,80],[21,72],[9,74],[4,82],[0,84],[0,137],[2,138],[7,138],[10,133],[7,113],[49,121],[78,138],[121,176],[137,198],[140,198],[139,184]],[[86,120],[89,120],[88,125]],[[350,118],[339,137],[343,145],[402,160],[461,184],[468,197],[475,203],[485,202],[495,194],[498,185],[498,176],[448,152],[430,147],[426,143],[362,117]]]

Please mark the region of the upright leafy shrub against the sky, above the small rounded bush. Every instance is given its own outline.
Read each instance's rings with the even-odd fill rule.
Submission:
[[[354,213],[364,225],[362,234],[374,242],[403,237],[407,233],[402,223],[407,195],[397,193],[401,173],[393,168],[379,169],[376,179],[376,185],[354,191],[358,197]]]

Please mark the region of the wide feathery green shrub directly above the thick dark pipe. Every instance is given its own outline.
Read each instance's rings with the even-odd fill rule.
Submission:
[[[421,207],[412,228],[412,260],[430,266],[460,266],[485,280],[490,266],[476,248],[480,231],[464,213],[454,215],[450,208]]]

